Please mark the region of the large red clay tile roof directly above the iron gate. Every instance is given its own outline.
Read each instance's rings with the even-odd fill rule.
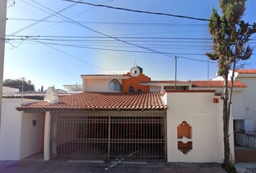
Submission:
[[[47,105],[46,101],[17,107],[17,110],[165,110],[159,92],[82,92],[60,97],[59,103]]]

